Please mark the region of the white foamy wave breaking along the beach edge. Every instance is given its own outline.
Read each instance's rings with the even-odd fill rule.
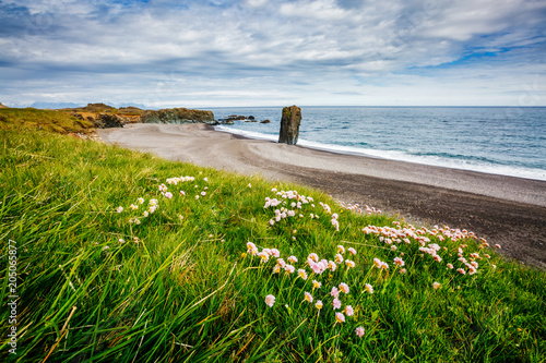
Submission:
[[[277,134],[274,135],[264,134],[253,131],[233,129],[229,126],[215,126],[215,130],[254,140],[264,140],[271,142],[277,142],[278,140]],[[470,171],[477,171],[490,174],[500,174],[507,177],[517,177],[523,179],[546,181],[546,170],[525,168],[519,166],[499,165],[486,158],[462,157],[447,153],[411,154],[399,150],[381,150],[381,149],[364,148],[356,146],[324,144],[302,138],[299,138],[298,145],[335,154],[357,155],[357,156],[365,156],[365,157],[372,157],[372,158],[380,158],[388,160],[428,165],[434,167],[470,170]]]

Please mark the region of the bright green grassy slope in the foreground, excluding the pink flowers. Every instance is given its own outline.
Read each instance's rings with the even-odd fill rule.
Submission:
[[[400,232],[406,222],[347,210],[301,185],[273,184],[58,134],[3,130],[0,148],[4,339],[11,328],[10,239],[17,245],[20,297],[17,354],[10,354],[9,341],[2,340],[1,361],[546,360],[544,273],[508,263],[467,234],[443,238],[449,234],[443,227],[416,227],[423,234],[390,244],[389,237],[363,229]],[[185,176],[194,180],[167,183]],[[171,198],[162,195],[162,184]],[[313,202],[294,208],[296,199],[276,195],[273,187],[298,191]],[[264,208],[265,197],[282,204]],[[151,199],[158,207],[144,217]],[[339,215],[339,231],[320,202]],[[117,213],[119,206],[123,211]],[[296,210],[296,216],[271,226],[274,209],[281,207]],[[311,219],[311,213],[319,218]],[[422,242],[426,246],[440,246],[441,263],[419,251],[424,238],[430,240]],[[275,258],[260,263],[247,251],[249,241],[260,252],[278,249],[285,262],[296,256],[296,273],[273,274]],[[473,275],[456,273],[460,267],[468,271],[458,261],[461,244],[466,245],[467,262],[478,263]],[[341,264],[335,271],[313,275],[307,256],[317,253],[333,261],[337,245],[357,251],[356,256],[343,255],[356,266]],[[393,263],[399,256],[405,274]],[[388,263],[389,269],[375,267],[373,258]],[[306,269],[307,280],[297,278],[298,268]],[[313,289],[313,279],[322,283],[320,289]],[[351,289],[340,295],[341,310],[349,304],[355,314],[335,323],[330,291],[341,282]],[[365,291],[366,283],[372,294]],[[306,291],[313,303],[305,301]],[[265,304],[269,294],[276,298],[272,307]],[[323,302],[320,313],[317,300]],[[365,329],[363,337],[355,335],[357,327]]]

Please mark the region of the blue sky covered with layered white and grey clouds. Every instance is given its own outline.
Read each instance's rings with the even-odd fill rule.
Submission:
[[[546,106],[546,1],[0,0],[0,102]]]

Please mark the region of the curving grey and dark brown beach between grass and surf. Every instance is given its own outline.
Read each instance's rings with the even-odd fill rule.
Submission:
[[[317,187],[411,222],[467,229],[509,258],[546,268],[546,182],[250,140],[204,124],[98,130],[106,143]]]

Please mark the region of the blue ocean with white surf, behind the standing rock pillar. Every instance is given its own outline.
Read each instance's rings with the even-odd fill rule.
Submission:
[[[216,130],[277,141],[281,107],[213,108]],[[298,145],[546,181],[545,107],[301,107]]]

